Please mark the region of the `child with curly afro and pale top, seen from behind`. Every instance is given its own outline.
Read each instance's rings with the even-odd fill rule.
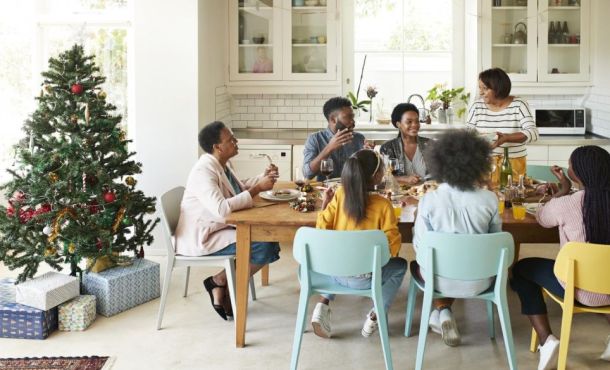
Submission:
[[[416,253],[427,231],[458,234],[501,231],[498,199],[482,187],[491,169],[490,153],[489,143],[468,130],[448,132],[428,145],[424,152],[426,166],[441,185],[419,202],[413,232]],[[417,262],[411,263],[411,273],[423,279]],[[452,297],[468,297],[484,292],[492,283],[493,278],[458,281],[437,276],[434,286]],[[453,301],[453,298],[435,299],[429,321],[432,331],[441,334],[449,346],[457,346],[461,341],[451,312]]]

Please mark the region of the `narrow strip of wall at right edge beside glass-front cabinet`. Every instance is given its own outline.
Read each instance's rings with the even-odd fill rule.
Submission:
[[[588,129],[610,137],[610,1],[591,1],[591,76],[593,87],[585,98],[591,110]]]

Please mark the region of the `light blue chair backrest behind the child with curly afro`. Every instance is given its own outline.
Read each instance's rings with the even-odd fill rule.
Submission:
[[[426,232],[418,246],[417,262],[426,269],[432,255],[432,271],[448,279],[479,280],[496,276],[514,259],[513,236]],[[426,271],[428,272],[428,271]]]

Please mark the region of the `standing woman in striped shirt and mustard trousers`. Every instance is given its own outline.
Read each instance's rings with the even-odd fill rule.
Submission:
[[[510,78],[500,68],[479,74],[479,95],[468,112],[466,126],[482,134],[495,133],[492,143],[495,171],[492,183],[497,184],[504,148],[508,147],[513,178],[525,175],[526,144],[538,140],[538,129],[527,102],[510,95]]]

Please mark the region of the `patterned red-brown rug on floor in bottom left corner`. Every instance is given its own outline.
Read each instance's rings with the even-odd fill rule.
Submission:
[[[108,370],[110,357],[0,358],[1,370]]]

